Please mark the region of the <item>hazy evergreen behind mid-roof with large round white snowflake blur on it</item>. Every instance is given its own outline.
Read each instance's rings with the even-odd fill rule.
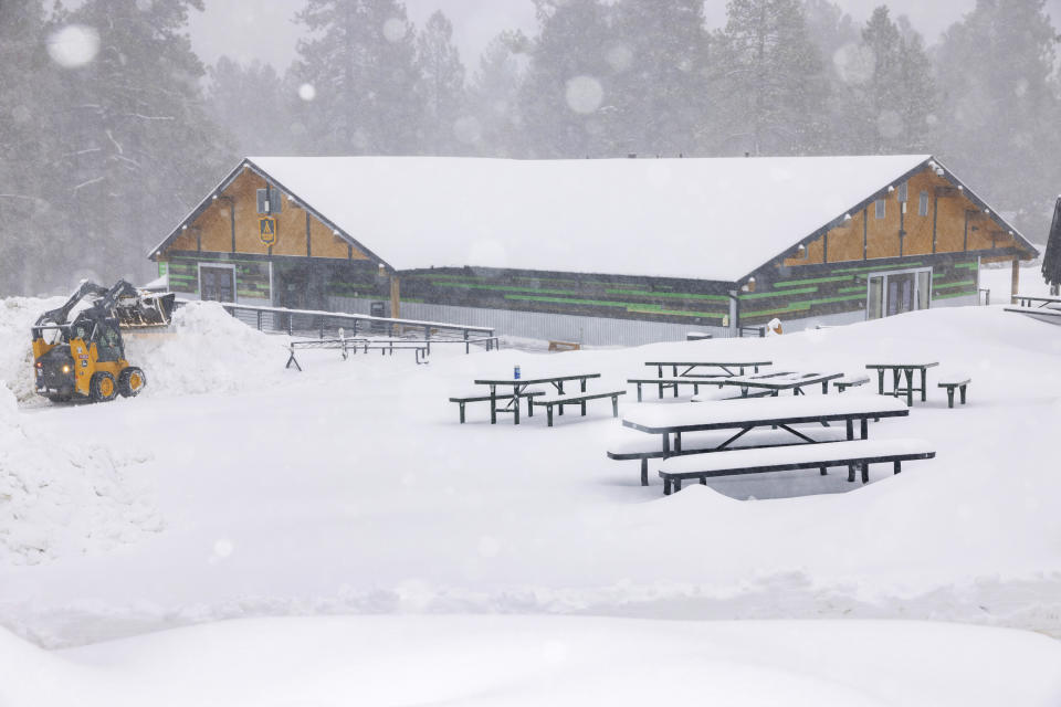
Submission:
[[[601,0],[535,0],[540,31],[519,95],[528,156],[611,157],[616,96]]]

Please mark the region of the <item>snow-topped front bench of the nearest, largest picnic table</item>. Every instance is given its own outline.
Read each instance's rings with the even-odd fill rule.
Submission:
[[[821,444],[795,444],[758,450],[732,450],[710,454],[670,456],[660,465],[663,493],[682,489],[685,479],[738,474],[763,474],[797,468],[818,468],[827,474],[830,466],[847,466],[848,481],[854,481],[855,467],[862,469],[862,483],[870,481],[870,464],[891,462],[894,473],[902,463],[928,460],[936,455],[922,440],[845,440]]]

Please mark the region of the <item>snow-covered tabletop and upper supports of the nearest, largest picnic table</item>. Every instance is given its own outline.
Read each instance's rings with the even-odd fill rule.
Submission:
[[[860,423],[861,439],[869,437],[871,418],[899,418],[910,410],[900,400],[876,397],[830,395],[828,398],[752,398],[696,405],[645,405],[622,418],[626,428],[662,436],[663,456],[681,454],[682,434],[704,430],[737,430],[712,451],[721,451],[756,428],[777,428],[790,433],[795,441],[815,443],[810,430],[796,430],[795,424],[843,422],[848,440],[854,439],[854,423]],[[671,435],[674,445],[671,446]],[[672,452],[673,449],[673,452]]]

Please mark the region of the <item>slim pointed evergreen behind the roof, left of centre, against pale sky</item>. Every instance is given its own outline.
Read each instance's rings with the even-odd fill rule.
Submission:
[[[423,106],[423,147],[430,155],[469,151],[475,136],[462,129],[466,118],[464,64],[453,45],[453,25],[435,11],[417,38],[417,89]]]

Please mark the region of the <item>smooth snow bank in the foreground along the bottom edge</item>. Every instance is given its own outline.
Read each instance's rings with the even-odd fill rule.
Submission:
[[[227,621],[57,653],[0,630],[10,707],[1054,706],[1061,646],[906,621],[327,616]],[[24,672],[23,672],[24,671]],[[410,679],[416,676],[416,679]]]

